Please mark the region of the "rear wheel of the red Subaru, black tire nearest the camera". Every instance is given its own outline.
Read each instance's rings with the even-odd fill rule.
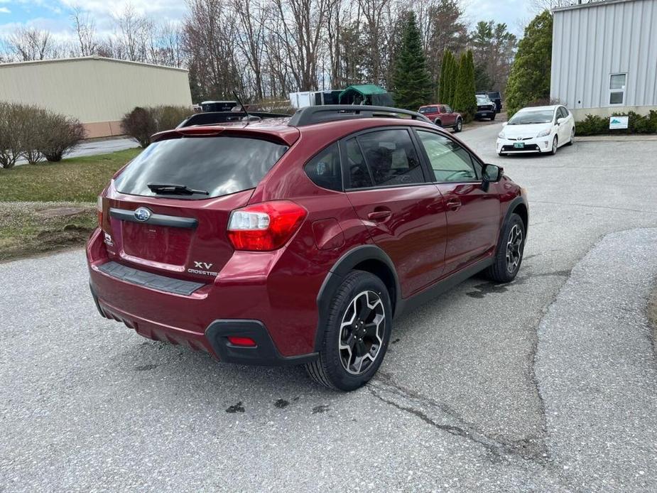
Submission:
[[[364,295],[365,293],[365,295]],[[366,298],[363,299],[363,296]],[[381,303],[379,304],[380,300]],[[376,325],[376,318],[369,323],[364,322],[359,325],[359,318],[357,310],[362,309],[362,302],[366,301],[366,305],[374,305],[375,308],[371,309],[374,317],[380,317],[383,313],[384,318],[379,319]],[[360,304],[359,304],[360,303]],[[353,310],[353,311],[352,311]],[[376,313],[375,313],[376,310]],[[341,328],[343,320],[349,317],[349,313],[354,313],[352,325]],[[376,325],[374,333],[379,344],[371,343],[368,335],[365,332],[358,332],[359,330],[365,331],[369,325]],[[381,325],[383,325],[381,327]],[[333,296],[332,303],[329,308],[329,313],[324,327],[324,336],[320,346],[320,356],[313,362],[306,363],[305,369],[311,379],[315,380],[318,384],[327,386],[329,389],[336,389],[341,391],[352,391],[371,379],[376,371],[381,366],[388,344],[390,340],[390,333],[392,330],[392,307],[390,303],[390,296],[386,285],[380,278],[374,276],[369,272],[352,271],[342,281],[340,288],[337,288],[335,296]],[[348,337],[347,337],[348,335]],[[358,338],[360,335],[360,339]],[[353,340],[353,347],[350,349],[343,346],[340,349],[341,342],[349,342]],[[371,344],[370,344],[371,343]],[[367,345],[369,347],[367,347]],[[366,350],[366,356],[362,357],[361,368],[367,362],[368,364],[361,372],[349,372],[347,367],[351,368],[350,362],[352,361],[353,352],[358,352],[359,347]],[[371,353],[376,350],[374,357]],[[348,352],[346,356],[345,351]],[[353,352],[352,352],[353,351]],[[347,362],[345,363],[345,359]],[[373,359],[373,360],[372,360]],[[354,371],[358,357],[354,358]],[[359,369],[361,369],[359,368]]]

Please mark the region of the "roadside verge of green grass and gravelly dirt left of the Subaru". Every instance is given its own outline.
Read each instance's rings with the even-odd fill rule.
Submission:
[[[0,170],[0,261],[85,244],[96,197],[139,151]]]

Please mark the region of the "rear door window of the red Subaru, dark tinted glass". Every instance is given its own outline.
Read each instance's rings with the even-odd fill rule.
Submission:
[[[420,159],[405,129],[370,132],[358,137],[374,185],[425,183]]]

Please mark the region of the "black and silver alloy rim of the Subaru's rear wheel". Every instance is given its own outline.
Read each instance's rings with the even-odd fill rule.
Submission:
[[[367,371],[384,343],[386,310],[379,294],[362,291],[342,317],[338,348],[342,367],[352,375]]]

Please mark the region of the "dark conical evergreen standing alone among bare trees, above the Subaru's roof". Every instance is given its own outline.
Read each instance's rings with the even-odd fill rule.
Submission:
[[[395,60],[395,104],[417,110],[430,102],[433,90],[416,15],[412,11],[406,15],[401,50]]]

